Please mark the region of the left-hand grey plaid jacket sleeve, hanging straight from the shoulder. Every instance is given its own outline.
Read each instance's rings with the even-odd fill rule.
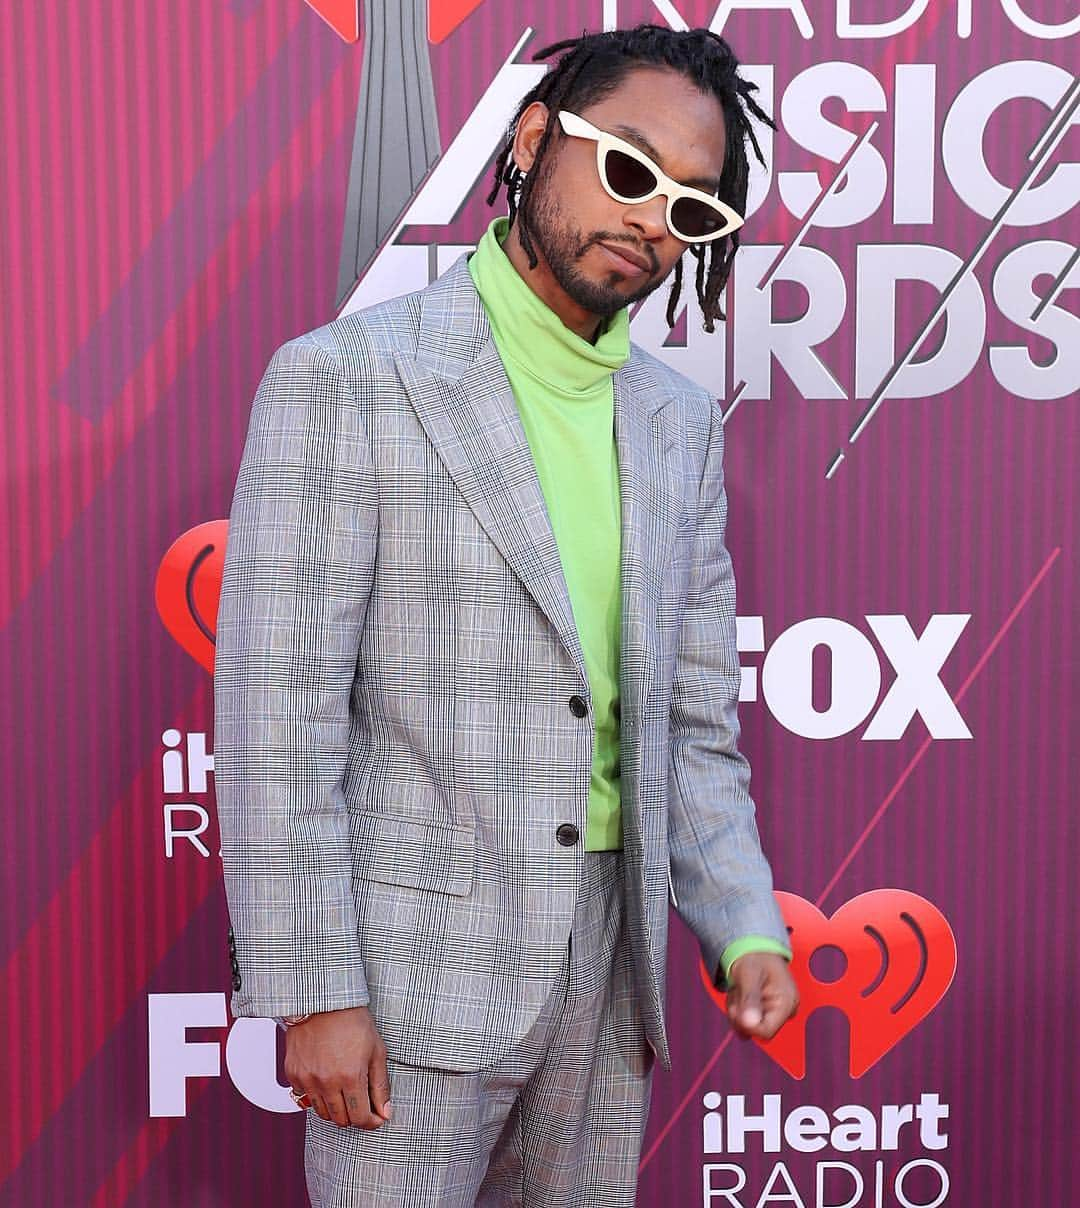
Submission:
[[[342,778],[378,523],[336,354],[283,344],[251,406],[214,672],[214,782],[234,1016],[362,1006]]]

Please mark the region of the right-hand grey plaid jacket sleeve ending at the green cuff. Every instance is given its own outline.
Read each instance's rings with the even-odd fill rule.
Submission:
[[[668,843],[675,908],[712,971],[741,936],[786,947],[788,930],[757,836],[750,766],[738,750],[742,672],[724,542],[724,428],[719,406],[712,399],[706,405],[708,440],[672,683]]]

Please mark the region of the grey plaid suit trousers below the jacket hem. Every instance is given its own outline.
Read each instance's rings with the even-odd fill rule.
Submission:
[[[625,919],[622,852],[582,853],[563,965],[535,1024],[478,1073],[390,1061],[393,1117],[377,1129],[309,1110],[313,1208],[632,1206],[655,1055]]]

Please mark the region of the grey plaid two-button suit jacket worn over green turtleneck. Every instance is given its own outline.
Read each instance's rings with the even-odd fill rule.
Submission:
[[[559,971],[588,681],[533,457],[463,254],[281,345],[252,403],[217,614],[234,1016],[370,1004],[391,1057],[498,1061]],[[669,889],[709,969],[786,941],[737,749],[722,428],[632,345],[614,376],[621,790],[645,1038]],[[582,524],[588,517],[582,516]],[[580,703],[577,713],[580,713]]]

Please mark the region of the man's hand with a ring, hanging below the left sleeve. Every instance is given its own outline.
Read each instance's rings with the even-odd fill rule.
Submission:
[[[378,1128],[390,1119],[387,1046],[366,1006],[323,1011],[289,1028],[285,1078],[329,1122]]]

